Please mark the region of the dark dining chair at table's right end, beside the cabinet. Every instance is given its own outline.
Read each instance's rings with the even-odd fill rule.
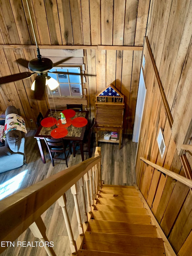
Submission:
[[[95,125],[95,117],[93,118],[93,120],[91,122],[90,129],[85,130],[85,135],[83,137],[83,147],[84,147],[84,145],[86,145],[88,147],[88,150],[83,149],[83,151],[89,153],[89,158],[92,155],[92,149],[93,149],[93,142],[94,142],[93,129],[94,129],[94,125]],[[79,144],[75,143],[75,141],[73,141],[72,145],[73,145],[73,157],[75,157],[75,153],[80,151],[80,149],[76,149],[79,146]]]

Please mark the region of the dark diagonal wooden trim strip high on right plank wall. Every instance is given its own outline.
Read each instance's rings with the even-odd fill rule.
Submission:
[[[157,82],[158,82],[158,86],[159,86],[159,89],[160,89],[160,92],[161,92],[161,98],[162,98],[162,101],[163,101],[165,113],[166,113],[166,116],[167,116],[167,118],[168,118],[170,128],[172,128],[172,125],[173,125],[173,117],[172,117],[172,114],[171,114],[171,111],[170,111],[170,108],[169,108],[169,105],[168,105],[168,102],[167,102],[167,98],[166,98],[166,96],[165,96],[165,92],[164,92],[164,89],[163,89],[163,85],[162,85],[162,83],[161,83],[161,79],[160,79],[160,76],[159,76],[159,72],[158,72],[158,69],[157,69],[157,66],[156,66],[156,63],[155,63],[155,59],[154,59],[154,57],[153,57],[153,53],[152,53],[152,50],[151,50],[151,46],[150,46],[150,43],[149,43],[149,39],[148,39],[147,36],[146,36],[145,39],[146,39],[147,49],[148,49],[148,51],[149,51],[149,55],[150,55],[150,57],[151,57],[151,61],[152,61],[153,68],[154,68],[154,71],[155,71],[155,76],[156,76],[156,79],[157,79]]]

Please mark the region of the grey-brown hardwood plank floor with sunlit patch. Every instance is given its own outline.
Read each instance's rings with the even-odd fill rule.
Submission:
[[[39,182],[61,170],[66,169],[64,160],[55,160],[55,166],[52,166],[49,153],[45,152],[46,164],[43,164],[38,149],[37,141],[34,139],[35,130],[30,130],[26,134],[26,161],[22,167],[0,173],[0,195],[3,192],[6,196],[16,193],[36,182]],[[123,135],[122,149],[119,150],[119,144],[116,143],[99,143],[101,146],[101,164],[102,164],[102,180],[104,184],[111,185],[133,185],[136,182],[134,162],[136,155],[137,143],[132,142],[130,135]],[[93,156],[95,152],[95,144],[93,148]],[[85,159],[88,159],[88,152],[85,152]],[[70,155],[68,158],[68,167],[81,162],[80,152],[76,153],[75,158]],[[13,188],[16,188],[13,191]],[[10,193],[10,194],[9,194]],[[73,195],[70,190],[66,192],[67,210],[71,221],[74,238],[78,236],[76,211],[74,208]],[[79,208],[83,216],[81,205],[81,194],[78,193]],[[70,255],[70,247],[67,236],[67,230],[64,224],[64,218],[61,207],[55,202],[41,216],[46,225],[46,235],[49,241],[54,242],[54,251],[56,255]],[[29,228],[22,233],[16,241],[39,241],[36,239]],[[16,244],[15,241],[15,244]],[[47,255],[43,247],[8,247],[1,256],[17,256],[17,255]]]

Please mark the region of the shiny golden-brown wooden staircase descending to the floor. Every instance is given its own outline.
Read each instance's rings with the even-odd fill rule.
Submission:
[[[165,256],[163,239],[134,186],[103,185],[78,255]]]

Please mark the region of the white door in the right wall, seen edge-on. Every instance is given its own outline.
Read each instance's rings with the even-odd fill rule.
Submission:
[[[139,80],[139,88],[137,94],[137,104],[135,110],[135,121],[134,121],[134,129],[133,129],[133,142],[138,142],[140,128],[141,128],[141,121],[143,116],[143,108],[145,104],[145,96],[146,96],[146,88],[145,82],[143,77],[143,70],[140,70],[140,80]]]

